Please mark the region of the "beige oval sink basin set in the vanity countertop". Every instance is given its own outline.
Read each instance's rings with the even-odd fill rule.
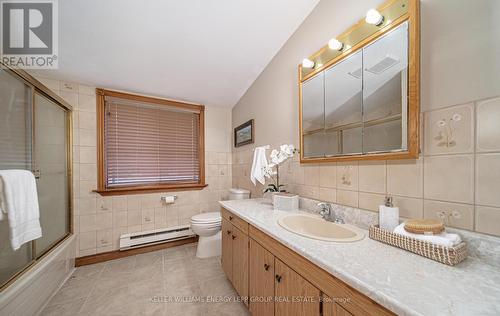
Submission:
[[[278,220],[278,224],[292,233],[318,240],[353,242],[365,237],[363,231],[355,226],[336,224],[305,214],[284,216]]]

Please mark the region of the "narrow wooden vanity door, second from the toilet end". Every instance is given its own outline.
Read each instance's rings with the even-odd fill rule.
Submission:
[[[233,286],[242,298],[248,298],[248,235],[232,226]],[[227,234],[227,232],[226,232]],[[248,305],[248,301],[245,300]]]

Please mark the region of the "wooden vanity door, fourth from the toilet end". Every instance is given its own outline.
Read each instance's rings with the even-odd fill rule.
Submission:
[[[275,316],[320,315],[320,291],[278,259],[275,262]]]

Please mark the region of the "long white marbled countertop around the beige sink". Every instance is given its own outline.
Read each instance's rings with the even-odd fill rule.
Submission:
[[[220,204],[398,315],[500,315],[500,269],[467,258],[450,267],[368,238],[309,239],[279,226],[290,212],[264,199]]]

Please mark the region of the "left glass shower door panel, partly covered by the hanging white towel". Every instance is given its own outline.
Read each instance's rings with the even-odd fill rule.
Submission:
[[[0,169],[31,170],[31,114],[31,87],[0,69]],[[31,261],[32,243],[14,251],[10,245],[8,219],[3,216],[0,220],[0,286]]]

